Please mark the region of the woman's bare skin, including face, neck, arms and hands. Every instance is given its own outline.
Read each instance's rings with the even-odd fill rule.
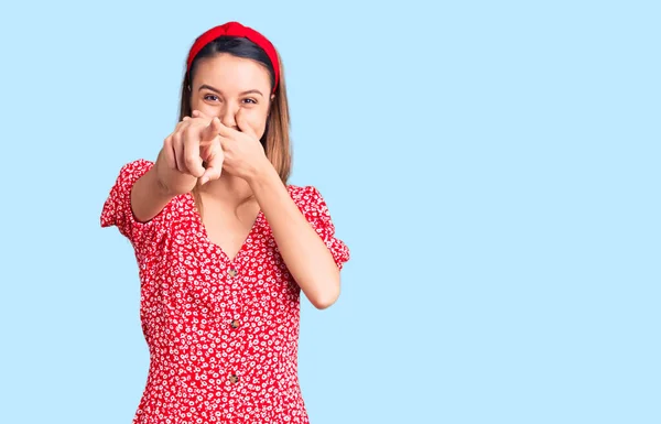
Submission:
[[[261,210],[305,296],[318,309],[330,306],[339,296],[339,269],[259,142],[273,100],[268,70],[220,54],[198,63],[191,93],[192,117],[177,123],[131,191],[137,219],[152,219],[199,184],[209,241],[234,259]]]

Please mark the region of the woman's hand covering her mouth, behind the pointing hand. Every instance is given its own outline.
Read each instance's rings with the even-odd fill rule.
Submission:
[[[205,115],[194,110],[195,117]],[[259,138],[242,118],[241,111],[236,116],[238,130],[220,123],[220,145],[223,148],[223,171],[250,182],[259,175],[266,166],[272,166],[264,153]]]

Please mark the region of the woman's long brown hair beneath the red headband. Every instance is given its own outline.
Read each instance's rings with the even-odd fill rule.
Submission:
[[[191,96],[192,96],[192,83],[193,75],[195,73],[196,64],[204,57],[212,57],[219,53],[229,53],[238,57],[246,57],[257,61],[262,64],[269,70],[271,75],[271,85],[274,81],[274,73],[271,66],[271,61],[267,56],[266,52],[261,50],[257,44],[252,43],[248,39],[242,37],[229,37],[221,36],[216,39],[214,42],[207,44],[193,61],[191,70],[184,75],[181,91],[181,104],[180,104],[180,118],[181,121],[184,117],[189,117],[191,110]],[[286,99],[286,86],[284,83],[284,68],[280,54],[278,55],[278,64],[280,75],[278,87],[275,87],[273,94],[274,98],[269,107],[269,116],[267,117],[267,127],[264,134],[260,142],[264,148],[267,157],[273,164],[273,167],[280,175],[280,180],[286,184],[290,177],[292,167],[292,149],[290,141],[290,116],[289,116],[289,102]],[[199,196],[198,186],[193,188],[193,196],[195,204],[202,214],[202,198]]]

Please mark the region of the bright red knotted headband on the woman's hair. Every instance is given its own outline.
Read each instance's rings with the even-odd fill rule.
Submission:
[[[273,91],[275,91],[275,88],[278,87],[278,80],[280,77],[280,66],[278,63],[278,54],[275,53],[275,47],[273,47],[273,44],[271,44],[271,42],[267,40],[266,36],[263,36],[262,34],[260,34],[251,28],[241,25],[238,22],[227,22],[223,25],[212,28],[204,34],[199,35],[197,40],[195,40],[193,46],[191,47],[191,52],[188,52],[188,59],[186,61],[186,70],[191,72],[191,65],[193,65],[193,59],[195,58],[195,56],[197,56],[199,51],[203,50],[205,45],[209,44],[212,41],[216,40],[221,35],[246,37],[254,44],[259,45],[267,53],[267,56],[269,56],[269,58],[271,59],[271,65],[273,66],[273,72],[275,74],[275,81],[273,85]]]

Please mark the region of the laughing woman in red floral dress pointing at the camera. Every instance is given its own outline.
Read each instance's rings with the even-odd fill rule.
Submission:
[[[124,165],[101,213],[132,243],[150,349],[134,423],[307,423],[301,291],[339,295],[349,259],[313,186],[288,185],[289,111],[273,45],[238,22],[191,47],[181,120],[155,163]]]

